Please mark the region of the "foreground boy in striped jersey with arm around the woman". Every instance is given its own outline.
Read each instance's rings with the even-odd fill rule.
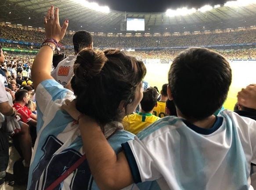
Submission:
[[[228,110],[213,115],[230,84],[231,67],[220,54],[204,48],[181,52],[169,70],[168,86],[179,117],[155,122],[123,144],[117,156],[99,125],[83,116],[79,125],[97,185],[114,190],[157,180],[160,188],[172,190],[249,189],[256,122]]]

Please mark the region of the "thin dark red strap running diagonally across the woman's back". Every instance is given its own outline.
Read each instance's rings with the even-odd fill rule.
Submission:
[[[65,171],[61,176],[58,177],[46,190],[53,190],[57,187],[62,181],[64,181],[75,169],[79,167],[86,160],[86,155],[83,155],[79,158],[67,171]]]

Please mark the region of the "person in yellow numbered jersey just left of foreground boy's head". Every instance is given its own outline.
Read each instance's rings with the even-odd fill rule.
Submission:
[[[159,116],[159,117],[164,117],[165,115],[165,111],[166,111],[166,101],[168,100],[168,95],[167,95],[167,85],[168,84],[163,84],[162,85],[162,90],[160,91],[161,94],[161,98],[160,100],[157,102],[157,106],[155,106],[155,108],[153,109],[153,114],[155,116]]]

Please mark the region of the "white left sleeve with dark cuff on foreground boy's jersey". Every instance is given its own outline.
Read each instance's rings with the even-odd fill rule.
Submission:
[[[155,165],[156,162],[151,152],[148,151],[148,148],[144,146],[138,137],[122,144],[122,147],[129,163],[134,183],[152,181],[162,176]]]

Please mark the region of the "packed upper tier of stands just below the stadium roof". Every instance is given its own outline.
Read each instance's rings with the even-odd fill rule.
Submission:
[[[45,38],[43,32],[22,30],[0,26],[0,38],[14,41],[41,43]],[[172,35],[156,37],[105,37],[94,35],[95,47],[116,48],[144,48],[144,47],[177,47],[177,46],[207,46],[223,44],[255,43],[256,30],[239,32],[198,34],[198,35]],[[72,46],[72,35],[66,35],[63,45]]]

